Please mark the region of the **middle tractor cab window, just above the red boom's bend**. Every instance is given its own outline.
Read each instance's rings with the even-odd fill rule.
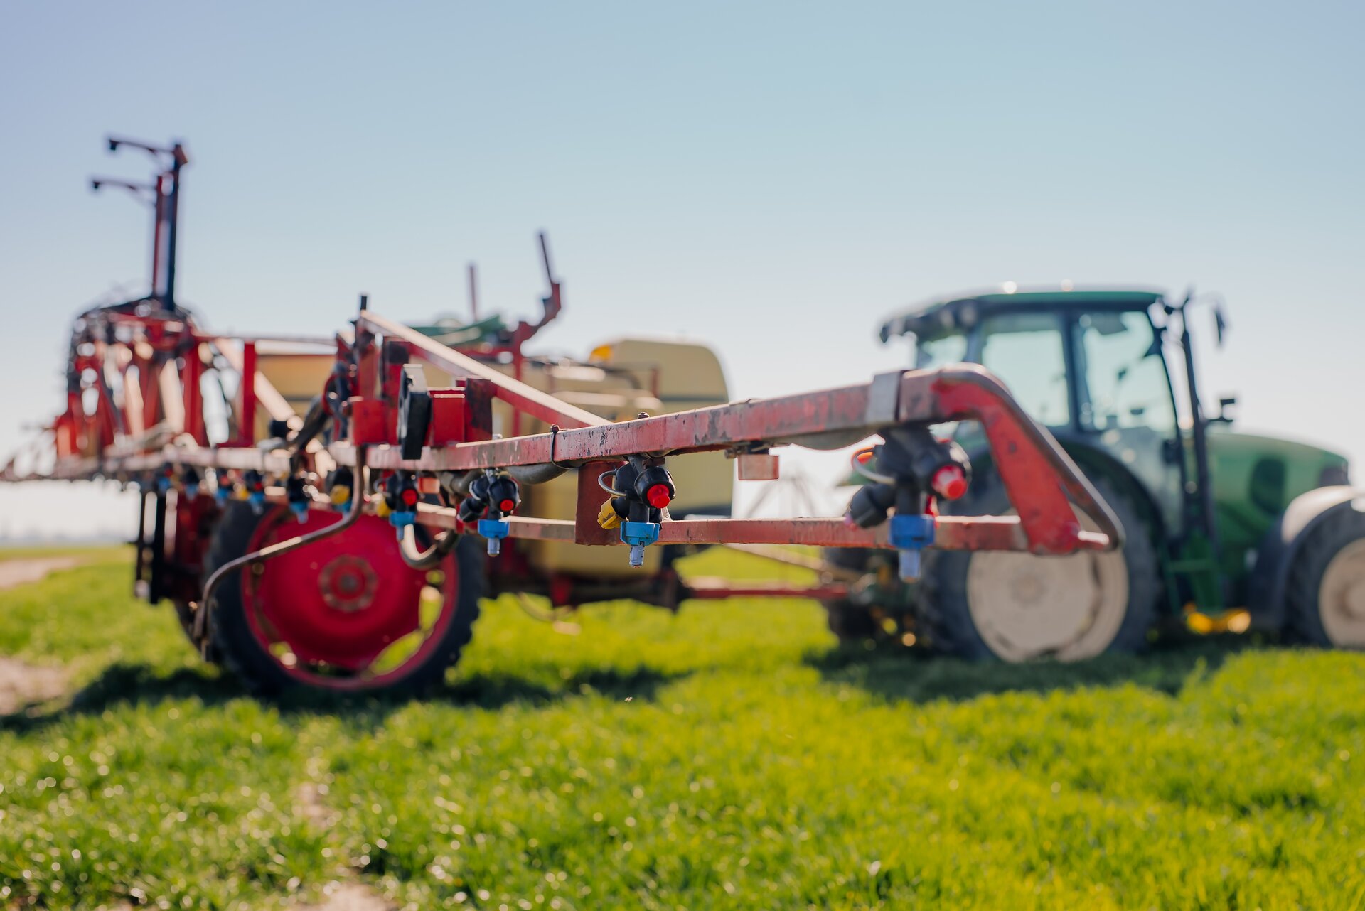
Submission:
[[[1024,410],[1046,427],[1070,425],[1062,322],[1055,312],[988,316],[980,345],[981,365],[1005,380]]]

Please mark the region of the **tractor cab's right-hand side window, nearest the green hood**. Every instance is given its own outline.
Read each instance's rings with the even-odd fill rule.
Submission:
[[[1085,430],[1175,432],[1175,404],[1160,338],[1145,312],[1095,312],[1076,319],[1077,408]]]

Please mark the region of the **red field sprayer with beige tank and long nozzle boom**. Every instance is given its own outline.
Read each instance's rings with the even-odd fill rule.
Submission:
[[[177,194],[183,150],[138,145],[172,162]],[[842,591],[681,580],[673,558],[707,544],[885,548],[912,578],[923,548],[1063,555],[1121,543],[1095,488],[981,367],[621,413],[663,405],[666,371],[635,360],[659,350],[627,340],[562,371],[521,353],[561,308],[547,254],[538,323],[412,329],[362,297],[351,329],[330,337],[228,337],[175,300],[175,230],[160,222],[176,207],[162,190],[158,180],[154,236],[172,240],[154,254],[152,293],[75,320],[66,409],[48,428],[52,466],[11,461],[3,476],[136,486],[139,595],[175,604],[201,653],[250,687],[420,687],[459,659],[479,597],[506,591],[665,607]],[[681,353],[698,368],[692,383],[714,364]],[[584,370],[595,386],[543,387]],[[689,395],[700,393],[669,405]],[[938,514],[972,471],[961,447],[927,430],[949,420],[980,421],[1014,516]],[[846,517],[715,516],[729,510],[728,460],[741,480],[773,480],[775,447],[871,435],[883,440],[863,461],[875,483]]]

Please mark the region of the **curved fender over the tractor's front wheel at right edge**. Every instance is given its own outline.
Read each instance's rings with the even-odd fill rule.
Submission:
[[[1278,631],[1284,626],[1284,589],[1294,558],[1319,522],[1342,509],[1365,511],[1365,490],[1319,487],[1299,494],[1271,525],[1256,548],[1248,585],[1246,608],[1253,627]]]

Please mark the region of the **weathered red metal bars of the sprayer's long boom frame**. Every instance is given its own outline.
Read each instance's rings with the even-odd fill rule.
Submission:
[[[404,460],[396,445],[366,446],[371,469],[415,472],[465,472],[515,466],[557,465],[580,469],[577,517],[547,520],[512,517],[511,536],[519,539],[620,544],[616,535],[597,526],[601,495],[590,484],[594,469],[610,468],[628,457],[648,458],[688,453],[748,451],[781,445],[835,449],[905,423],[932,424],[949,420],[981,421],[1017,517],[958,517],[936,520],[935,547],[945,550],[1028,550],[1069,554],[1077,550],[1114,547],[1121,540],[1117,520],[1095,490],[1039,424],[1029,419],[1005,386],[986,370],[953,365],[928,371],[893,371],[868,383],[824,389],[766,400],[714,405],[687,412],[610,423],[579,409],[516,378],[506,376],[474,357],[445,348],[426,335],[373,311],[362,310],[356,344],[377,352],[401,342],[416,359],[455,376],[480,380],[516,412],[551,424],[550,432],[509,439],[457,442],[425,447],[420,458]],[[192,327],[186,327],[192,333]],[[255,371],[254,344],[238,350],[229,340],[213,335],[214,348],[243,371],[243,408],[251,398],[274,415],[288,408]],[[382,344],[381,344],[382,341]],[[198,345],[198,340],[194,342]],[[371,355],[366,355],[373,357]],[[364,393],[362,383],[362,394]],[[382,385],[379,386],[382,389]],[[389,395],[392,395],[392,390]],[[382,393],[381,393],[382,395]],[[280,401],[274,401],[280,400]],[[283,405],[283,408],[281,408]],[[396,408],[396,402],[386,401]],[[292,409],[289,410],[292,415]],[[250,416],[243,410],[243,432]],[[104,473],[131,477],[168,464],[259,471],[281,475],[292,471],[291,454],[240,446],[195,447],[175,442],[160,449],[109,447],[100,458],[61,460],[53,476]],[[141,451],[138,451],[141,449]],[[358,461],[358,447],[333,443],[326,454],[340,465]],[[317,460],[321,453],[313,453]],[[595,473],[601,473],[597,471]],[[1072,511],[1074,502],[1099,526],[1084,532]],[[422,505],[418,521],[441,529],[464,531],[456,510]],[[820,547],[890,547],[887,528],[861,529],[838,518],[734,520],[706,518],[666,521],[662,544],[811,544]]]

